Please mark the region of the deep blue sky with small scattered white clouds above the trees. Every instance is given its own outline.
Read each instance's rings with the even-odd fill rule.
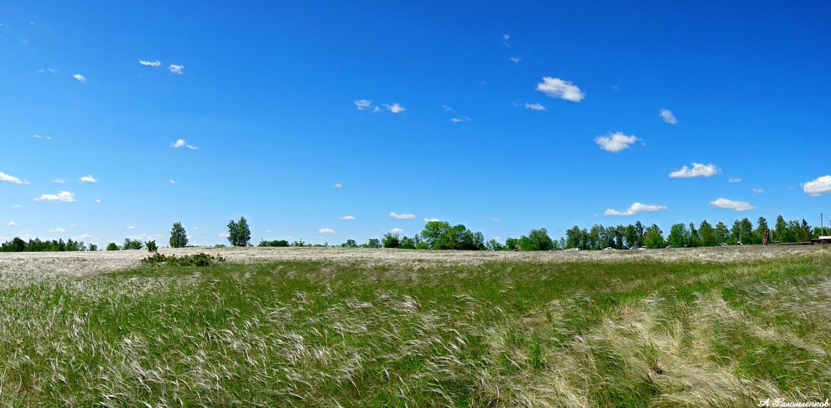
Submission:
[[[671,3],[4,2],[0,240],[819,224],[831,3]]]

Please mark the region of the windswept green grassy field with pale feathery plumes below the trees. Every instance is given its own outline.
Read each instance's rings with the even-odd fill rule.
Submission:
[[[831,397],[829,248],[207,252],[229,262],[0,254],[0,404],[745,407]]]

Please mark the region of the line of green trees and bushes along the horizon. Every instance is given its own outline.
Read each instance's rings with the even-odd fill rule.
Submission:
[[[412,237],[401,236],[398,233],[386,233],[381,238],[370,238],[366,243],[357,243],[355,239],[347,239],[340,246],[342,248],[401,248],[401,249],[452,249],[460,251],[551,251],[555,249],[603,249],[603,248],[684,248],[684,247],[712,247],[722,243],[758,244],[762,243],[765,230],[770,230],[769,243],[799,243],[808,242],[811,238],[820,235],[831,235],[831,227],[811,227],[805,219],[786,221],[781,215],[776,218],[774,228],[770,228],[765,217],[759,217],[756,225],[750,219],[736,219],[728,228],[727,224],[718,222],[715,225],[707,220],[695,223],[673,224],[669,233],[664,232],[657,224],[644,227],[640,221],[635,224],[603,226],[594,224],[591,229],[580,228],[574,225],[566,231],[565,236],[553,239],[548,230],[531,229],[529,233],[519,238],[506,238],[504,243],[496,239],[484,241],[484,235],[479,231],[472,231],[465,225],[451,225],[447,221],[430,221],[425,224],[420,233]],[[240,217],[231,219],[228,223],[228,240],[231,246],[251,246],[251,229],[248,220]],[[184,248],[188,246],[188,234],[181,222],[176,222],[170,229],[170,248]],[[217,245],[218,247],[224,245]],[[302,239],[289,243],[285,239],[266,240],[258,243],[258,247],[328,247],[324,244],[308,244]],[[108,243],[106,250],[147,248],[155,251],[155,241],[142,242],[135,238],[125,238],[122,245]],[[29,239],[15,237],[11,241],[0,244],[0,252],[46,252],[46,251],[96,251],[96,244],[89,247],[81,241],[63,239],[42,241],[39,238]]]

